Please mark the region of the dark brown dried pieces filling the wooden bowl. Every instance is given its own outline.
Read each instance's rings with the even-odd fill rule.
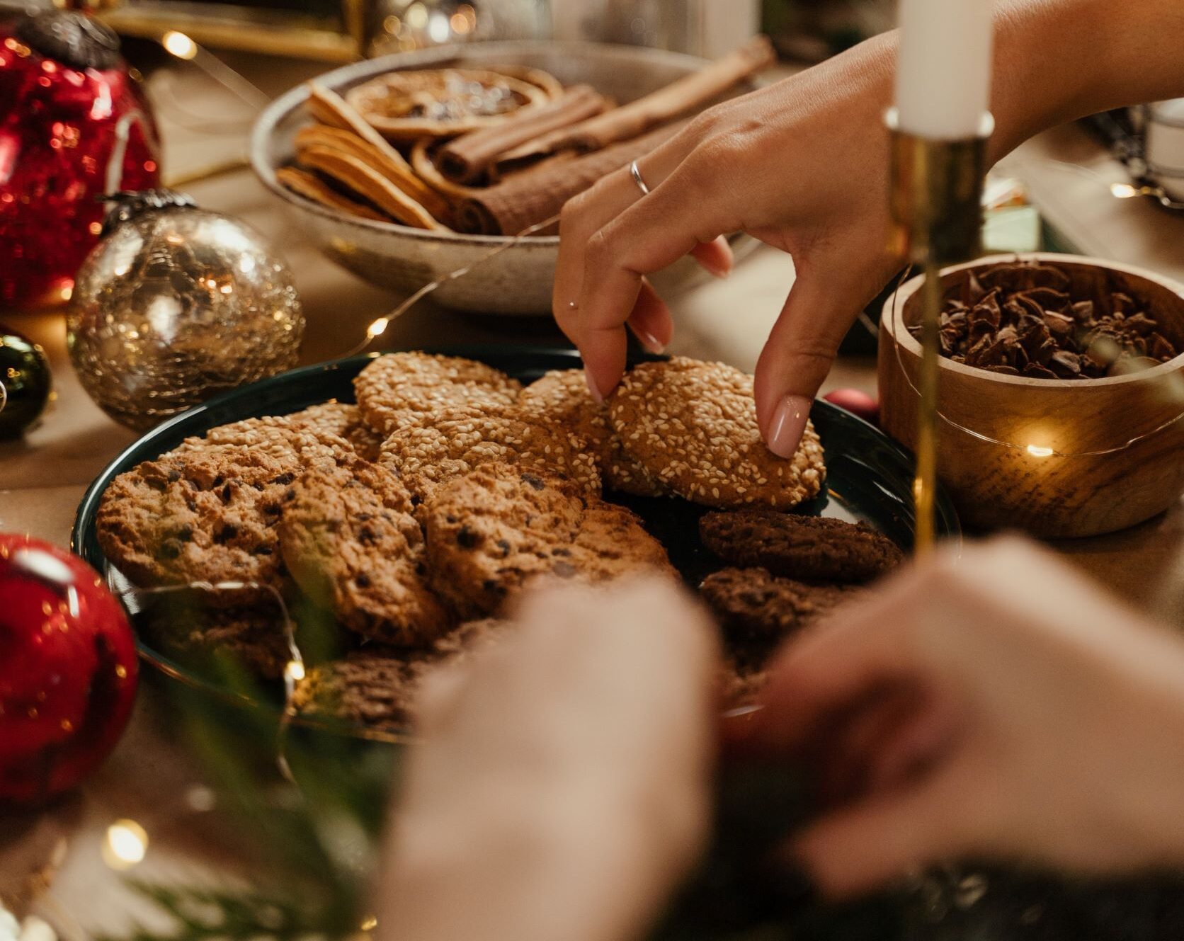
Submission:
[[[1081,281],[1019,260],[969,272],[946,291],[941,355],[1003,375],[1100,379],[1180,354],[1138,298]],[[920,339],[920,326],[908,329]]]

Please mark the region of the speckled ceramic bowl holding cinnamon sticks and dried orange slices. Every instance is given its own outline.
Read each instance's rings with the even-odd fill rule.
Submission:
[[[345,94],[374,76],[395,69],[444,65],[520,64],[543,69],[567,85],[586,83],[629,102],[697,71],[704,59],[637,46],[596,43],[474,43],[449,49],[397,53],[360,62],[321,76],[322,84]],[[288,91],[259,116],[251,135],[251,163],[263,183],[282,199],[294,220],[334,262],[372,284],[411,294],[463,266],[468,275],[442,285],[433,299],[448,308],[484,314],[536,316],[551,312],[551,288],[559,257],[558,237],[522,239],[493,258],[491,250],[511,239],[464,236],[356,219],[311,202],[281,186],[276,169],[295,154],[296,131],[311,123],[305,86]],[[484,260],[482,260],[484,259]],[[702,277],[681,262],[655,278],[662,292],[677,292]]]

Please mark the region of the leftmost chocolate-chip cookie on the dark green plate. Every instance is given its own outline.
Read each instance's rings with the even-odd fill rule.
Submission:
[[[139,586],[243,581],[279,587],[276,524],[295,497],[296,476],[290,460],[264,450],[223,446],[166,455],[111,482],[98,509],[98,542]],[[236,592],[229,602],[246,604],[246,597]]]

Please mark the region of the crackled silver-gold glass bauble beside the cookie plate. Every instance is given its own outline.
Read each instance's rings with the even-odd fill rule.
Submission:
[[[70,359],[104,412],[143,431],[296,365],[300,298],[255,231],[165,189],[114,200],[66,316]]]

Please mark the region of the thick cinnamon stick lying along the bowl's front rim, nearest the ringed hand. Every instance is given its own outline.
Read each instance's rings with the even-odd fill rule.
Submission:
[[[461,204],[457,211],[461,231],[480,236],[516,236],[558,215],[572,196],[613,170],[645,156],[686,125],[686,121],[667,124],[604,150],[572,160],[548,161],[516,173],[506,182],[490,186]]]

